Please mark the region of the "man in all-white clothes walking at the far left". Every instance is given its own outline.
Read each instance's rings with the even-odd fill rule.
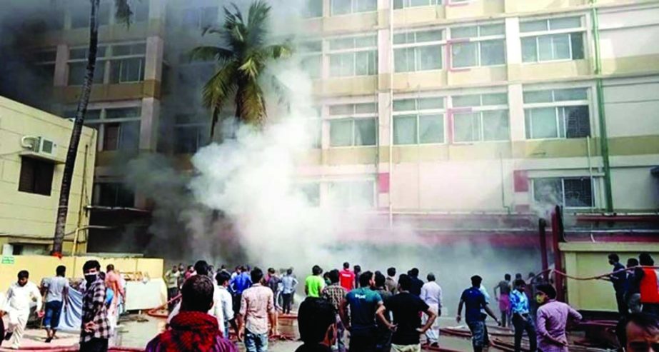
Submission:
[[[19,271],[18,281],[12,283],[7,290],[6,313],[9,316],[9,326],[5,340],[14,336],[11,348],[21,347],[21,339],[25,332],[25,326],[30,316],[30,304],[36,301],[36,310],[41,311],[41,293],[33,282],[28,281],[30,273],[26,270]]]

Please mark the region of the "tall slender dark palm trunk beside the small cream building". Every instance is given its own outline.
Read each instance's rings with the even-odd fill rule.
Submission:
[[[76,120],[74,129],[71,132],[69,141],[69,150],[66,151],[66,164],[64,164],[64,173],[62,174],[62,183],[59,191],[59,206],[57,208],[57,218],[55,223],[55,236],[53,239],[53,256],[61,256],[62,244],[64,243],[64,231],[66,226],[66,215],[69,212],[69,194],[71,193],[71,178],[73,178],[74,167],[76,166],[76,156],[78,155],[78,144],[82,126],[87,113],[89,96],[91,94],[91,84],[94,82],[94,69],[96,68],[96,51],[99,47],[99,1],[89,0],[91,2],[91,14],[89,16],[89,53],[87,55],[87,68],[85,79],[82,84],[82,94],[78,101],[76,110]]]

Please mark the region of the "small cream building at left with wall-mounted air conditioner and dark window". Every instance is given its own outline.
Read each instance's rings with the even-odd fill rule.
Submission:
[[[64,159],[73,123],[0,96],[0,244],[3,255],[48,254]],[[96,157],[96,131],[84,127],[74,176],[64,253],[86,251],[87,237],[76,229],[89,225]],[[9,252],[9,253],[8,253]],[[12,273],[13,275],[13,273]]]

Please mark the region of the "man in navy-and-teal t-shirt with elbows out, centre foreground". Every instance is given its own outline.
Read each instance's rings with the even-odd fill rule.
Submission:
[[[339,307],[343,326],[350,331],[348,352],[373,352],[376,349],[376,313],[384,311],[385,308],[380,293],[371,290],[375,283],[371,271],[362,273],[359,276],[360,288],[348,292]]]

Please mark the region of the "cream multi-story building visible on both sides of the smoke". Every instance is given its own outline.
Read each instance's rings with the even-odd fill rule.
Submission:
[[[201,29],[222,14],[217,1],[133,2],[126,28],[102,1],[87,117],[94,203],[129,218],[149,196],[122,186],[117,161],[161,151],[185,166],[207,142],[198,87],[213,64],[186,53],[213,42]],[[65,116],[88,34],[89,2],[69,3],[31,42]],[[390,218],[659,208],[658,1],[306,4],[297,40],[319,121],[301,182],[320,206],[338,197]]]

